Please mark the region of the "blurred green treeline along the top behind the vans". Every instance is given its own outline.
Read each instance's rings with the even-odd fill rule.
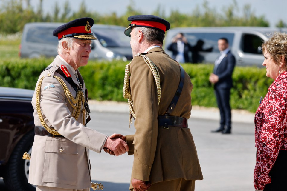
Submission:
[[[52,8],[52,13],[46,14],[42,11],[43,0],[39,0],[39,7],[36,12],[30,5],[30,0],[25,0],[26,7],[22,7],[22,0],[2,1],[4,2],[0,7],[0,33],[22,31],[27,22],[68,22],[80,17],[91,17],[97,24],[113,24],[126,27],[130,23],[127,21],[127,17],[144,14],[141,10],[135,9],[134,0],[130,0],[130,4],[126,7],[126,12],[123,15],[117,15],[115,12],[101,15],[94,11],[88,11],[84,0],[82,0],[76,12],[71,11],[69,1],[66,0],[62,7],[56,2]],[[158,5],[152,14],[168,20],[171,27],[269,26],[264,16],[254,15],[254,11],[249,4],[243,7],[242,16],[240,16],[236,0],[233,0],[227,7],[223,7],[219,12],[215,8],[211,8],[208,1],[204,0],[201,6],[197,5],[188,13],[181,13],[175,9],[171,10],[169,16],[165,16],[164,7]],[[286,23],[281,20],[277,26],[286,27]]]

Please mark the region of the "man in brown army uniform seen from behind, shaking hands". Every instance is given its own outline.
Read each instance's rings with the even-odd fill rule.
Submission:
[[[126,66],[123,94],[136,132],[113,137],[125,140],[128,154],[134,154],[130,190],[194,190],[195,180],[203,176],[187,127],[193,85],[162,49],[170,24],[153,15],[128,20],[132,22],[125,34],[131,37],[134,58]]]

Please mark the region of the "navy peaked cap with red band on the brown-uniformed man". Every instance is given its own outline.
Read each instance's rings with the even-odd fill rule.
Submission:
[[[169,22],[154,15],[134,15],[128,17],[128,21],[132,21],[125,30],[125,35],[129,37],[131,37],[132,27],[147,27],[164,33],[170,29]]]

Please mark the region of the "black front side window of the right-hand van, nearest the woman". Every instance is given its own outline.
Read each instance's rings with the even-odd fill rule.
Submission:
[[[243,34],[241,48],[245,53],[262,54],[263,39],[253,34]]]

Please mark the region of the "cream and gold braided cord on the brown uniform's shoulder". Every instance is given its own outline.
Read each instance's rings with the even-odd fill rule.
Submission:
[[[151,59],[149,59],[146,55],[138,53],[136,56],[142,56],[144,58],[144,61],[149,66],[149,69],[152,71],[152,75],[155,78],[157,93],[158,93],[158,104],[161,101],[161,78],[158,72],[158,68],[156,67],[155,63],[152,62]],[[135,119],[135,111],[133,109],[133,102],[132,102],[132,95],[131,95],[131,89],[129,84],[129,70],[130,70],[131,62],[126,65],[125,70],[125,79],[123,82],[123,98],[128,99],[129,104],[129,127],[131,127],[132,118]]]

